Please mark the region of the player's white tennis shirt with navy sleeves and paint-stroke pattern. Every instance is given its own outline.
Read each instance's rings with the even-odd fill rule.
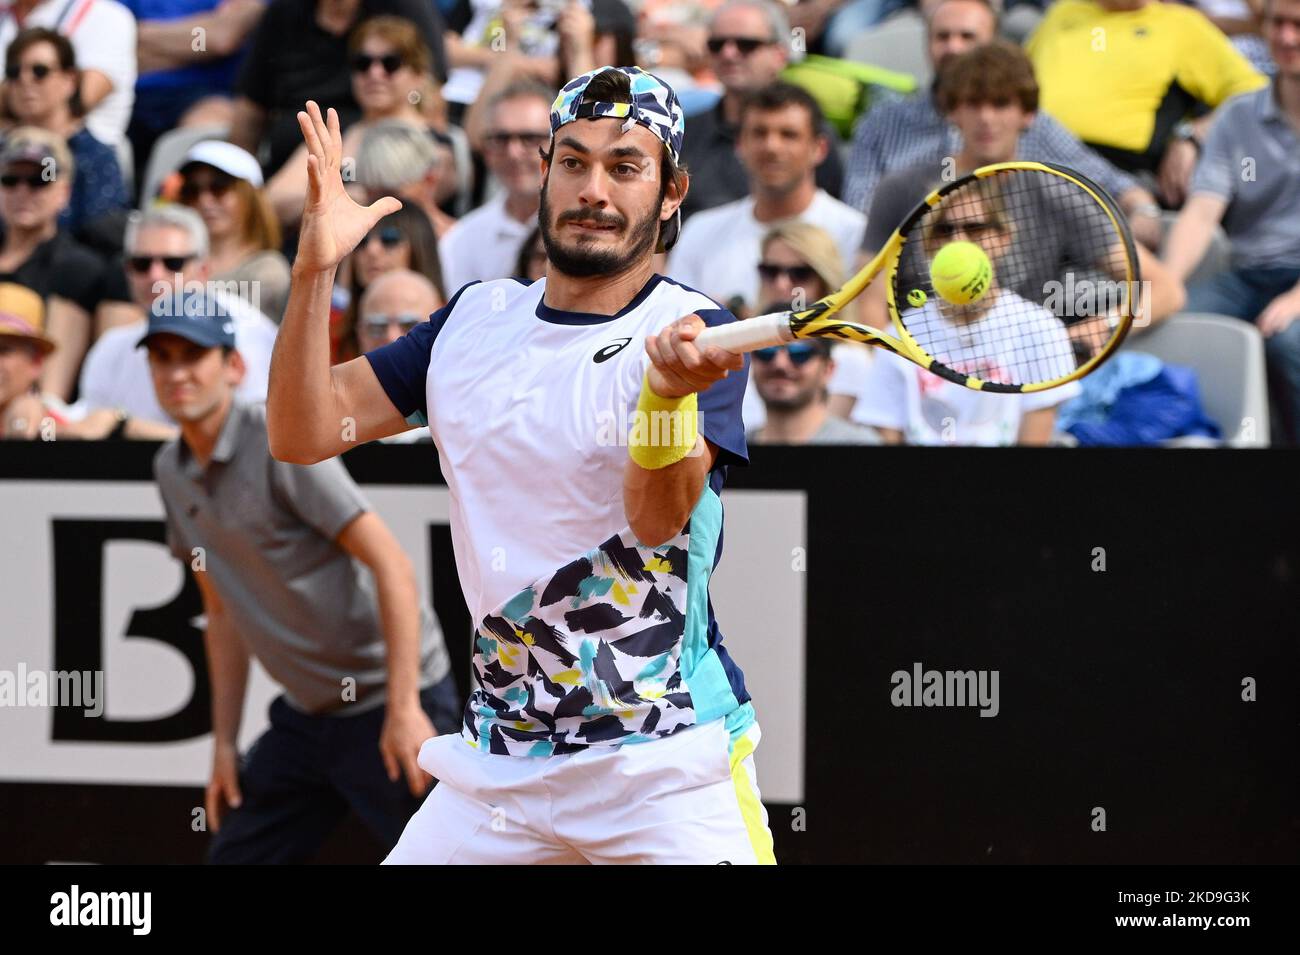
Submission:
[[[719,453],[681,533],[642,544],[623,502],[645,338],[690,313],[734,318],[660,275],[615,316],[552,309],[545,288],[465,286],[367,355],[394,407],[428,422],[451,495],[477,628],[464,735],[491,752],[545,756],[719,717],[741,733],[753,708],[707,587],[727,465],[748,460],[748,364],[699,395],[699,430]]]

